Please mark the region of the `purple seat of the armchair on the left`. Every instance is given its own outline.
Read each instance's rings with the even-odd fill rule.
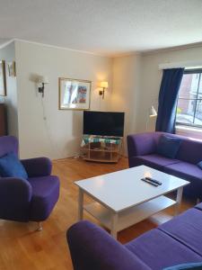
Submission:
[[[46,220],[59,196],[59,179],[49,175],[28,179],[32,187],[30,220]]]

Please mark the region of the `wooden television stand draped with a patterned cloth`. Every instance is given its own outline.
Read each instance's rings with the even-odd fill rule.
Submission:
[[[89,161],[117,163],[122,146],[122,137],[83,135],[82,157]]]

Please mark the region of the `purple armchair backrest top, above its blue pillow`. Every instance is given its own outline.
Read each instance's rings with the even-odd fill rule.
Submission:
[[[11,152],[18,155],[18,139],[13,136],[0,137],[0,157]]]

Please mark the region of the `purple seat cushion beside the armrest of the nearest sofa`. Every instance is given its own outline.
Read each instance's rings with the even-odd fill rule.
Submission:
[[[202,257],[160,229],[152,229],[127,243],[126,247],[154,270],[190,262]]]

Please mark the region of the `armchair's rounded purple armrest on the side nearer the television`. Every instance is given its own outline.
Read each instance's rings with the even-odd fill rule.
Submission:
[[[22,159],[21,162],[29,177],[47,176],[51,174],[52,163],[48,157]]]

